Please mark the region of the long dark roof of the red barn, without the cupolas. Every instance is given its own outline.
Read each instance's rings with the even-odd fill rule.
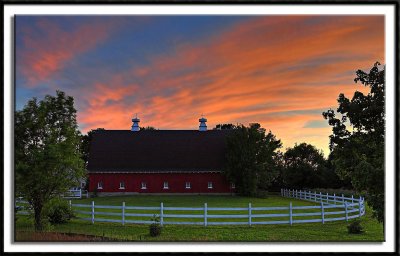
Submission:
[[[93,134],[89,172],[220,171],[229,130],[100,130]]]

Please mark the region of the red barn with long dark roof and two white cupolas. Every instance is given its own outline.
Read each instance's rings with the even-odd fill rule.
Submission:
[[[89,191],[99,195],[136,193],[230,194],[222,174],[229,130],[98,130],[93,134]]]

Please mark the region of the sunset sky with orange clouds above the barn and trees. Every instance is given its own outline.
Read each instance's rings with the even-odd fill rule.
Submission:
[[[79,129],[260,123],[329,154],[322,112],[366,89],[383,16],[17,16],[16,109],[62,90]]]

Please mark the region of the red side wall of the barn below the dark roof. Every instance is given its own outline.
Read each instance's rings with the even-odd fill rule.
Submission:
[[[125,182],[125,189],[119,188],[119,183]],[[164,181],[169,189],[164,189]],[[98,192],[137,192],[137,193],[232,193],[230,183],[221,173],[90,173],[89,191],[97,188],[98,182],[103,182],[103,189]],[[141,189],[141,183],[146,182],[147,189]],[[186,182],[191,188],[186,188]],[[208,182],[213,188],[208,188]]]

